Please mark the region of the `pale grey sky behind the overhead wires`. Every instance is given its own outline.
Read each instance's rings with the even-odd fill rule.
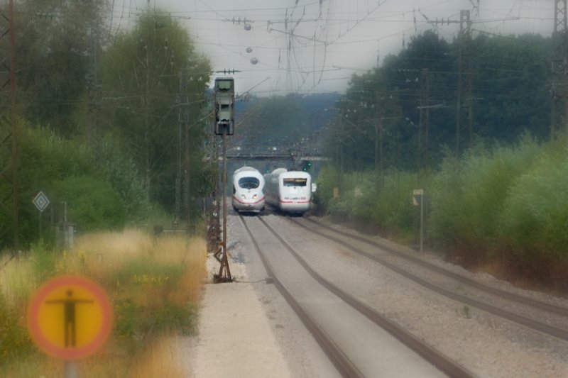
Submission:
[[[128,3],[126,3],[128,1]],[[114,9],[116,10],[113,25],[116,27],[119,19],[123,19],[131,23],[138,13],[141,13],[146,9],[147,1],[143,0],[115,0]],[[175,1],[152,1],[152,4],[159,7],[160,4],[174,4]],[[348,4],[349,3],[349,4]],[[373,11],[378,4],[388,5],[388,8],[381,9],[380,11]],[[400,4],[409,4],[404,1],[400,1]],[[469,2],[468,2],[469,3]],[[477,3],[477,1],[474,1]],[[125,5],[126,4],[126,5]],[[208,5],[207,5],[208,4]],[[221,4],[221,5],[219,5]],[[261,6],[257,6],[261,4]],[[323,4],[323,7],[320,6]],[[351,4],[351,5],[350,5]],[[225,53],[212,55],[213,62],[217,60],[228,60],[229,57],[236,56],[239,69],[251,68],[247,70],[250,72],[247,76],[250,79],[255,77],[254,72],[266,72],[266,70],[273,70],[273,75],[271,80],[264,83],[263,86],[258,87],[257,91],[265,91],[267,87],[272,87],[273,90],[282,91],[284,87],[281,84],[283,80],[283,74],[286,71],[279,70],[279,67],[284,65],[278,65],[279,55],[283,57],[288,51],[288,46],[286,44],[286,38],[284,36],[278,37],[275,32],[268,33],[266,28],[259,27],[268,21],[272,22],[272,28],[278,28],[279,25],[285,21],[284,13],[286,9],[294,9],[295,13],[294,20],[290,23],[290,28],[294,26],[294,33],[296,35],[301,35],[305,38],[292,38],[293,48],[290,53],[293,55],[292,67],[290,67],[290,72],[293,73],[293,84],[290,90],[293,91],[297,89],[299,91],[320,91],[329,88],[329,84],[334,82],[344,82],[348,79],[339,79],[349,77],[349,73],[353,72],[347,68],[344,69],[346,74],[334,74],[329,71],[325,71],[325,66],[337,65],[339,59],[348,59],[349,55],[352,55],[350,51],[359,49],[361,55],[359,60],[363,58],[363,52],[367,43],[373,43],[373,57],[369,56],[368,62],[371,67],[371,61],[373,67],[376,66],[376,41],[381,40],[381,59],[389,54],[389,49],[391,41],[398,40],[396,44],[398,48],[402,48],[400,40],[402,40],[402,35],[405,33],[407,42],[408,36],[414,33],[422,33],[424,30],[432,28],[432,24],[428,24],[425,19],[417,20],[417,23],[412,22],[413,18],[413,6],[406,6],[400,11],[393,11],[395,7],[393,6],[393,1],[371,1],[371,0],[356,0],[356,1],[290,1],[290,6],[282,6],[282,3],[276,3],[275,1],[264,1],[263,3],[252,4],[250,7],[237,8],[234,4],[229,1],[204,1],[195,0],[192,2],[192,6],[183,4],[182,7],[178,9],[168,9],[167,14],[175,19],[182,21],[187,27],[190,27],[193,23],[200,23],[200,28],[196,32],[199,38],[195,38],[195,43],[199,46],[200,50],[215,47],[217,50],[225,50]],[[418,4],[416,1],[414,4]],[[436,11],[444,11],[447,14],[456,14],[459,9],[464,6],[463,1],[457,0],[442,0],[442,1],[420,1],[420,11],[425,14],[432,14]],[[402,8],[402,7],[400,7]],[[122,11],[126,9],[126,11]],[[159,9],[159,8],[158,8]],[[481,1],[479,5],[479,18],[475,21],[480,21],[477,23],[476,30],[485,30],[486,32],[495,34],[505,34],[507,28],[506,24],[499,23],[497,21],[499,18],[515,17],[519,30],[537,30],[537,26],[540,24],[547,23],[552,18],[552,13],[548,13],[549,16],[543,16],[543,11],[537,13],[539,9],[552,9],[552,5],[545,3],[544,1],[509,1],[506,7],[489,6],[488,2]],[[528,12],[530,10],[535,10],[533,12]],[[369,13],[369,14],[367,14]],[[416,13],[418,16],[419,13]],[[256,21],[255,28],[249,33],[256,39],[256,45],[252,46],[259,55],[262,55],[259,59],[258,65],[256,67],[251,67],[249,60],[250,57],[243,54],[244,49],[246,49],[247,42],[244,38],[244,30],[242,26],[238,28],[235,26],[233,29],[233,34],[239,34],[239,38],[234,38],[234,42],[231,42],[227,38],[226,28],[220,28],[217,24],[226,19],[239,18],[244,19],[254,19]],[[447,16],[444,16],[447,17]],[[435,18],[435,16],[434,16]],[[321,20],[320,26],[326,28],[326,33],[331,35],[331,38],[317,38],[320,43],[315,43],[314,31],[315,20]],[[481,21],[486,22],[481,22]],[[530,21],[533,20],[533,21]],[[490,22],[491,21],[491,22]],[[325,23],[325,26],[324,26]],[[357,23],[357,24],[356,24]],[[366,33],[361,33],[365,28],[379,27],[383,24],[393,24],[396,23],[400,26],[395,26],[394,30],[391,27],[390,33],[380,33],[377,35],[368,35]],[[356,25],[355,25],[356,24]],[[123,23],[122,28],[126,25]],[[310,26],[311,25],[311,26]],[[524,25],[524,26],[523,26]],[[308,31],[312,28],[311,31]],[[511,28],[510,30],[513,30]],[[192,29],[195,30],[195,29]],[[317,30],[318,33],[322,33],[322,30]],[[446,38],[452,38],[455,33],[455,28],[449,30],[439,30],[439,33],[444,35]],[[253,35],[254,34],[254,35]],[[344,34],[342,38],[339,35]],[[229,35],[230,36],[230,35]],[[268,37],[268,38],[267,38]],[[368,38],[365,38],[368,37]],[[338,39],[339,38],[339,39]],[[261,50],[262,49],[262,50]],[[318,55],[317,50],[322,52],[322,55]],[[281,58],[282,62],[285,59]],[[380,62],[379,62],[380,64]],[[305,67],[301,70],[297,70],[296,67]],[[346,67],[348,65],[340,65]],[[307,69],[307,67],[310,67]],[[256,70],[252,70],[252,68]],[[286,67],[288,70],[288,67]],[[270,83],[270,84],[269,84]],[[326,84],[327,83],[327,84]]]

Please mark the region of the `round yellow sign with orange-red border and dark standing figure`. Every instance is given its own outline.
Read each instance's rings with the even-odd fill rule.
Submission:
[[[94,353],[111,331],[107,294],[85,277],[51,279],[28,306],[28,329],[41,350],[62,360]]]

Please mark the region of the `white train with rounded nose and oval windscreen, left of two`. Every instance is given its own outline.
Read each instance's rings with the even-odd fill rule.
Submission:
[[[253,167],[236,169],[233,174],[233,209],[258,213],[264,209],[264,177]]]

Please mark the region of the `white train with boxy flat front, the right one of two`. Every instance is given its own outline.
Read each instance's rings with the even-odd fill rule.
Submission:
[[[303,171],[274,169],[264,175],[266,202],[287,213],[305,213],[312,202],[312,176]]]

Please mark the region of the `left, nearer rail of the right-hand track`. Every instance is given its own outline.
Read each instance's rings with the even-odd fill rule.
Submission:
[[[364,250],[361,250],[359,248],[355,248],[354,246],[349,245],[349,243],[346,243],[344,240],[341,240],[339,238],[334,238],[333,236],[327,235],[327,234],[322,233],[322,232],[317,231],[317,230],[312,230],[312,229],[308,228],[305,225],[302,225],[301,223],[299,223],[297,221],[293,221],[293,222],[302,226],[302,228],[305,228],[305,229],[309,230],[310,232],[315,233],[316,235],[320,235],[323,238],[327,238],[328,240],[332,240],[339,245],[343,245],[344,247],[348,248],[349,250],[351,250],[353,252],[358,253],[359,255],[363,255],[365,257],[368,257],[370,260],[378,262],[379,264],[383,265],[384,267],[391,269],[393,272],[396,272],[396,273],[400,274],[401,276],[408,278],[408,279],[410,279],[411,281],[413,281],[417,284],[420,284],[420,286],[425,287],[427,289],[430,289],[431,291],[434,291],[437,294],[440,294],[442,296],[446,296],[447,298],[453,299],[454,301],[458,301],[462,304],[467,304],[469,306],[479,308],[480,310],[486,311],[488,313],[493,313],[493,315],[499,316],[499,317],[507,319],[509,321],[513,321],[515,323],[520,324],[521,326],[525,326],[525,327],[530,328],[532,330],[537,330],[537,331],[540,331],[542,333],[546,333],[547,335],[554,336],[555,338],[559,338],[561,340],[568,341],[568,330],[565,330],[563,328],[558,328],[558,327],[555,327],[555,326],[550,326],[546,323],[541,323],[540,321],[535,321],[531,318],[527,318],[525,316],[519,315],[518,313],[506,311],[506,310],[503,310],[503,308],[498,308],[498,307],[493,306],[491,304],[486,304],[486,303],[478,301],[476,299],[471,299],[467,296],[454,293],[453,291],[450,291],[448,289],[444,289],[444,288],[439,287],[435,284],[427,282],[425,279],[421,279],[420,277],[415,276],[414,274],[392,264],[391,262],[384,260],[381,257],[378,257],[376,255],[372,255],[371,253],[365,252]]]

